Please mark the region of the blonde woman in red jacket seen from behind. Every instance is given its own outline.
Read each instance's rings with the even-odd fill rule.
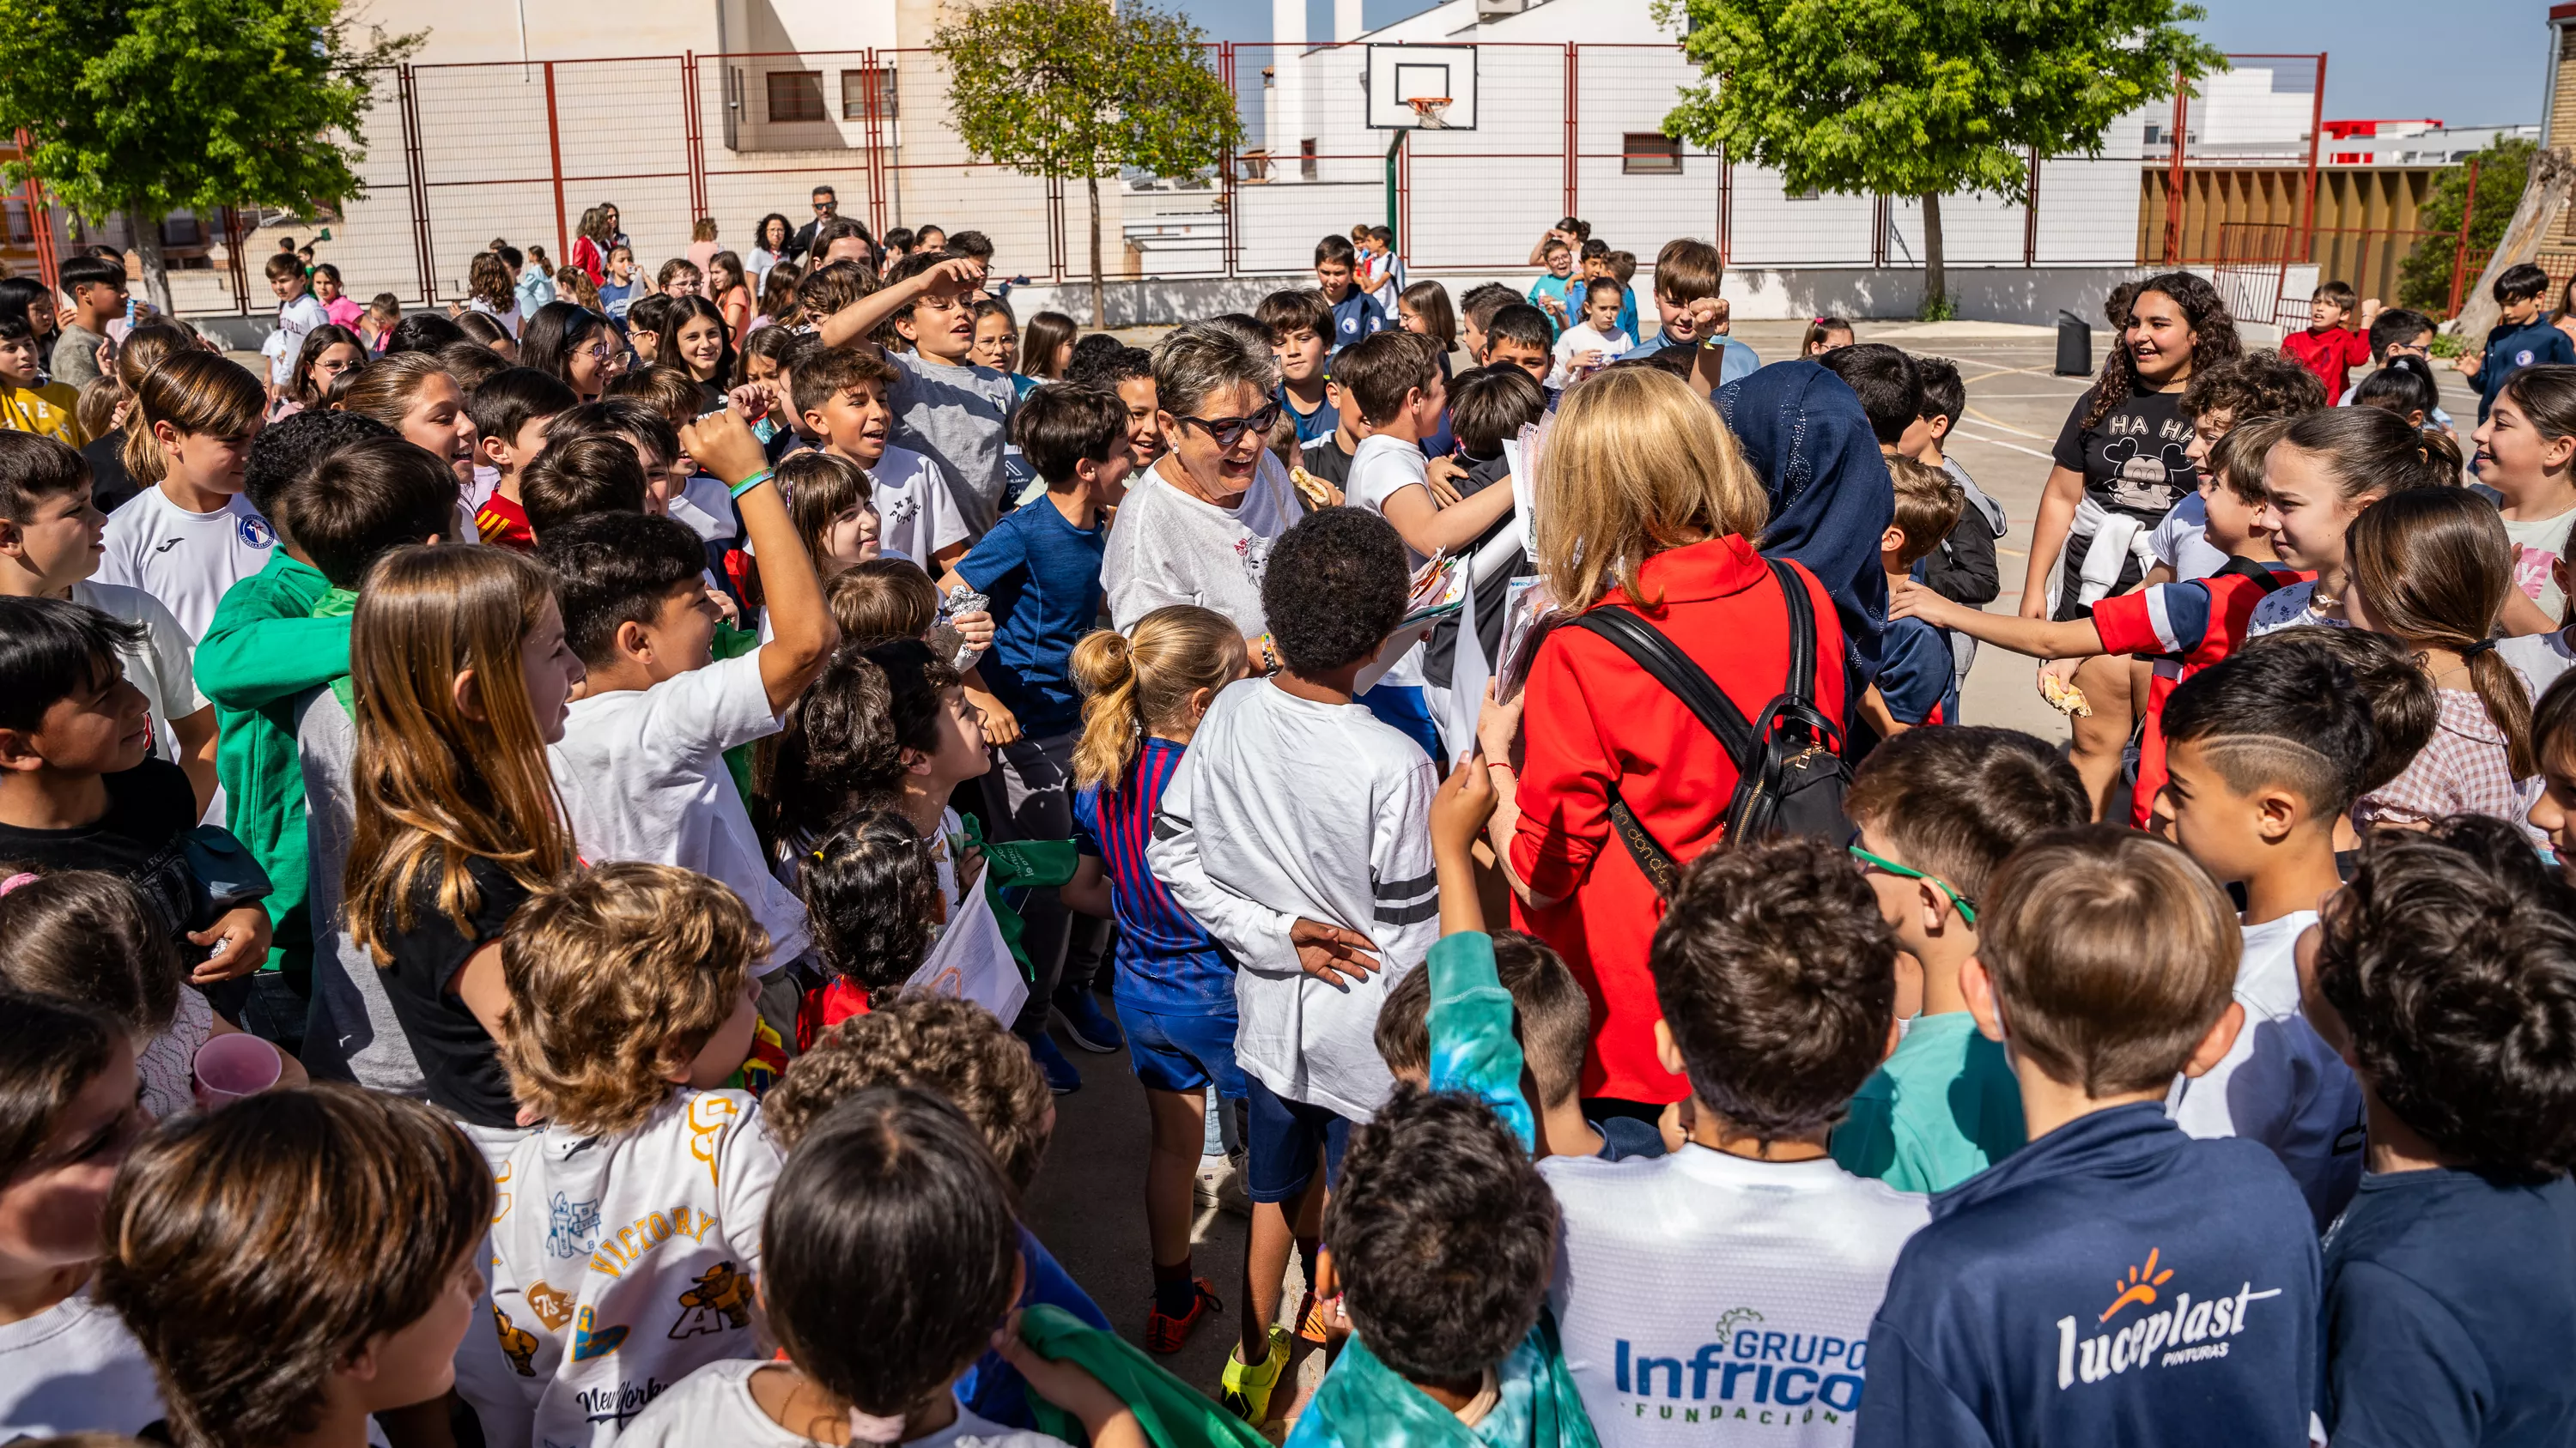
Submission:
[[[1680,379],[1618,368],[1566,392],[1535,469],[1538,569],[1569,613],[1625,608],[1654,624],[1747,714],[1788,683],[1788,603],[1754,536],[1765,490],[1708,399]],[[1834,600],[1803,567],[1816,616],[1816,703],[1844,714]],[[1522,711],[1528,727],[1522,729]],[[1584,1095],[1659,1105],[1690,1085],[1654,1051],[1646,946],[1664,902],[1610,830],[1610,791],[1674,861],[1716,843],[1736,765],[1716,734],[1618,644],[1556,629],[1517,703],[1489,706],[1497,855],[1515,922],[1556,948],[1592,997]]]

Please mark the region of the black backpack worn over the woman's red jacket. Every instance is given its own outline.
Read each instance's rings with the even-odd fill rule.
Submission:
[[[1762,840],[1770,835],[1819,835],[1842,840],[1852,822],[1842,814],[1842,794],[1852,783],[1852,768],[1842,763],[1842,724],[1816,706],[1816,605],[1798,580],[1798,569],[1765,559],[1772,582],[1788,603],[1788,685],[1772,698],[1759,719],[1744,719],[1726,691],[1708,678],[1708,670],[1690,662],[1654,624],[1625,608],[1595,608],[1574,618],[1574,629],[1589,629],[1618,644],[1656,683],[1672,691],[1726,747],[1736,763],[1736,794],[1726,804],[1723,840]],[[1672,858],[1636,812],[1610,786],[1610,827],[1636,858],[1646,884],[1672,899],[1682,886],[1682,866]]]

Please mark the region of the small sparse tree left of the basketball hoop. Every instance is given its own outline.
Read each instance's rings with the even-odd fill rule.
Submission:
[[[1123,167],[1193,175],[1244,134],[1198,26],[1149,5],[994,0],[951,10],[930,49],[948,62],[969,152],[1090,191],[1092,325],[1105,327],[1100,180]]]

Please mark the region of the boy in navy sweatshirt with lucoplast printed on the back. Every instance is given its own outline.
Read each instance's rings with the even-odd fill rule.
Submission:
[[[1906,1242],[1855,1445],[2303,1448],[2308,1203],[2262,1144],[2164,1116],[2244,1023],[2228,897],[2154,835],[2081,824],[2014,850],[1976,928],[1960,992],[2007,1046],[2030,1144]]]

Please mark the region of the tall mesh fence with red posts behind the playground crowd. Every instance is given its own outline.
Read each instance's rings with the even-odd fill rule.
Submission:
[[[1414,273],[1510,273],[1558,216],[1589,219],[1641,265],[1672,237],[1710,237],[1736,268],[1924,260],[1917,198],[1788,193],[1770,170],[1667,137],[1677,93],[1700,82],[1680,46],[1476,44],[1476,126],[1425,131],[1365,126],[1370,49],[1211,44],[1244,142],[1195,178],[1100,180],[1103,273],[1301,273],[1316,237],[1360,222],[1391,227]],[[2290,209],[2313,211],[2324,57],[2236,59],[2172,119],[2148,111],[2143,134],[2123,124],[2102,155],[2032,155],[2027,206],[1942,198],[1945,260],[2099,268],[2223,250],[2200,245],[2218,242],[2218,211],[2195,201],[2231,193],[2221,173],[2269,175],[2298,193]],[[927,49],[407,64],[371,80],[366,196],[317,222],[332,229],[322,260],[361,299],[461,299],[466,265],[495,237],[564,265],[600,206],[647,273],[688,250],[701,216],[721,247],[750,252],[762,216],[811,222],[817,186],[878,234],[974,227],[1005,276],[1090,276],[1090,188],[979,165]],[[28,196],[15,211],[28,204],[41,209]],[[2280,258],[2306,255],[2316,219],[2287,222]]]

